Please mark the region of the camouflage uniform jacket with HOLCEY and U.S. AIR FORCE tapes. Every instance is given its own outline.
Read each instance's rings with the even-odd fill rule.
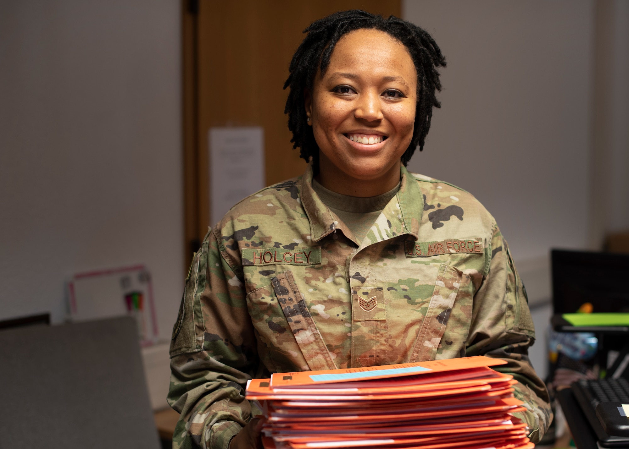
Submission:
[[[357,241],[313,172],[243,199],[192,261],[170,346],[174,448],[227,448],[257,409],[252,377],[488,355],[509,363],[538,441],[548,393],[528,362],[526,293],[493,217],[468,192],[401,167]]]

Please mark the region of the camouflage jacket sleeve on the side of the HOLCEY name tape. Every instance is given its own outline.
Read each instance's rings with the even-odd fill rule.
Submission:
[[[242,271],[214,231],[194,255],[170,343],[168,402],[181,414],[173,448],[228,448],[251,418],[257,365]],[[240,274],[240,279],[238,274]]]

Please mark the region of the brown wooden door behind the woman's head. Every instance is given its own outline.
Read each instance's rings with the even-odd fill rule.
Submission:
[[[189,263],[215,224],[209,223],[209,128],[262,126],[267,185],[302,174],[306,163],[292,149],[282,89],[302,31],[346,9],[399,17],[401,0],[183,0],[182,7]]]

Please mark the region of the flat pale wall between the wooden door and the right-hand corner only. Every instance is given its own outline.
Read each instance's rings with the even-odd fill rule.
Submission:
[[[593,1],[404,0],[403,16],[448,63],[409,167],[472,192],[523,265],[586,247]]]

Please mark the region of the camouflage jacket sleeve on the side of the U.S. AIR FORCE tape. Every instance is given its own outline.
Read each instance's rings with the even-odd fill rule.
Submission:
[[[515,396],[524,402],[526,411],[516,416],[526,421],[529,438],[538,443],[548,429],[552,412],[546,385],[528,358],[528,347],[535,342],[533,319],[520,275],[495,225],[490,249],[491,262],[474,296],[466,355],[486,355],[508,362],[494,369],[518,381]]]

